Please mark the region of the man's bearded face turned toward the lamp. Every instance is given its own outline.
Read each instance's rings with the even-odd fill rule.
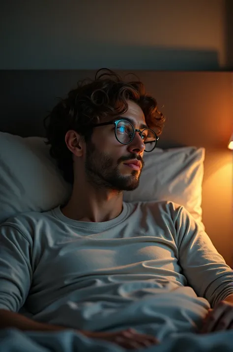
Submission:
[[[135,129],[146,124],[141,107],[131,101],[128,101],[128,110],[120,117],[133,119]],[[115,137],[114,124],[94,128],[86,148],[85,172],[88,181],[111,190],[133,191],[139,185],[145,164],[142,159],[144,149],[145,144],[138,132],[129,144],[121,144]],[[132,159],[142,163],[141,170],[134,170],[123,164]]]

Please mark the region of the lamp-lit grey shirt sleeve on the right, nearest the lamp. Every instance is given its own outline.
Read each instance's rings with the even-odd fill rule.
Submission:
[[[233,293],[233,270],[184,207],[178,209],[175,229],[183,274],[197,295],[214,307]]]

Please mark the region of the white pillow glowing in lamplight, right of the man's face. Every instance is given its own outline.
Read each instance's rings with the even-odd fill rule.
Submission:
[[[125,191],[123,200],[172,201],[184,206],[204,228],[201,207],[204,156],[205,149],[197,147],[155,148],[145,152],[139,187]]]

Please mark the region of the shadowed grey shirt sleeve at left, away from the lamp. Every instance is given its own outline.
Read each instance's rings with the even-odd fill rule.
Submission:
[[[0,226],[0,309],[18,312],[24,305],[32,281],[31,243],[21,231]]]

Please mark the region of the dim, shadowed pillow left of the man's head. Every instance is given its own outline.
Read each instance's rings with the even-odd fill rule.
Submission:
[[[20,212],[55,208],[70,194],[43,141],[0,132],[0,223]]]

